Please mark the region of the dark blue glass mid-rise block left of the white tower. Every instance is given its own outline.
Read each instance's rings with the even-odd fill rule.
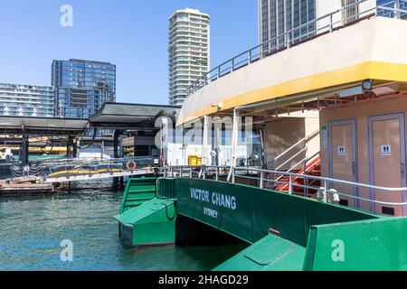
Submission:
[[[53,61],[55,117],[89,118],[116,101],[116,65],[99,61]]]

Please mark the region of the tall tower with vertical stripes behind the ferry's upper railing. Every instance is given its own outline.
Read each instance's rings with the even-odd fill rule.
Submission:
[[[333,22],[339,26],[357,20],[361,11],[365,12],[362,16],[374,13],[376,5],[407,9],[406,0],[366,0],[359,3],[357,0],[259,0],[259,42],[264,43],[261,51],[278,50],[279,44],[285,41],[285,36],[280,35],[292,30],[293,33],[288,33],[288,37],[293,42],[320,33],[319,29],[327,27],[329,20],[309,22],[321,16],[344,8],[342,14],[333,16]],[[386,16],[392,13],[379,8],[377,14]],[[400,13],[400,17],[405,18],[407,14]]]

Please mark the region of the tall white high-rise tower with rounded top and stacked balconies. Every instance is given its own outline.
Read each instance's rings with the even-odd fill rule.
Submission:
[[[178,10],[169,18],[169,104],[181,106],[188,87],[210,67],[210,16]]]

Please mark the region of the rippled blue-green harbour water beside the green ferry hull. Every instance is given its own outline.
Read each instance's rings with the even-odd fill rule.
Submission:
[[[122,193],[110,187],[87,182],[71,193],[0,199],[0,270],[210,270],[243,248],[129,247],[112,218]],[[73,243],[72,262],[61,260],[62,240]]]

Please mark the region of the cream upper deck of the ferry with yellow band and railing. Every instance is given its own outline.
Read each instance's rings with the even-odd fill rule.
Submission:
[[[361,8],[352,21],[342,18],[349,8],[304,23],[214,68],[190,87],[177,125],[233,110],[274,117],[334,106],[354,101],[345,98],[349,93],[364,95],[366,79],[379,89],[374,92],[389,83],[407,91],[407,39],[402,36],[407,34],[407,7]],[[298,38],[308,26],[317,30]]]

